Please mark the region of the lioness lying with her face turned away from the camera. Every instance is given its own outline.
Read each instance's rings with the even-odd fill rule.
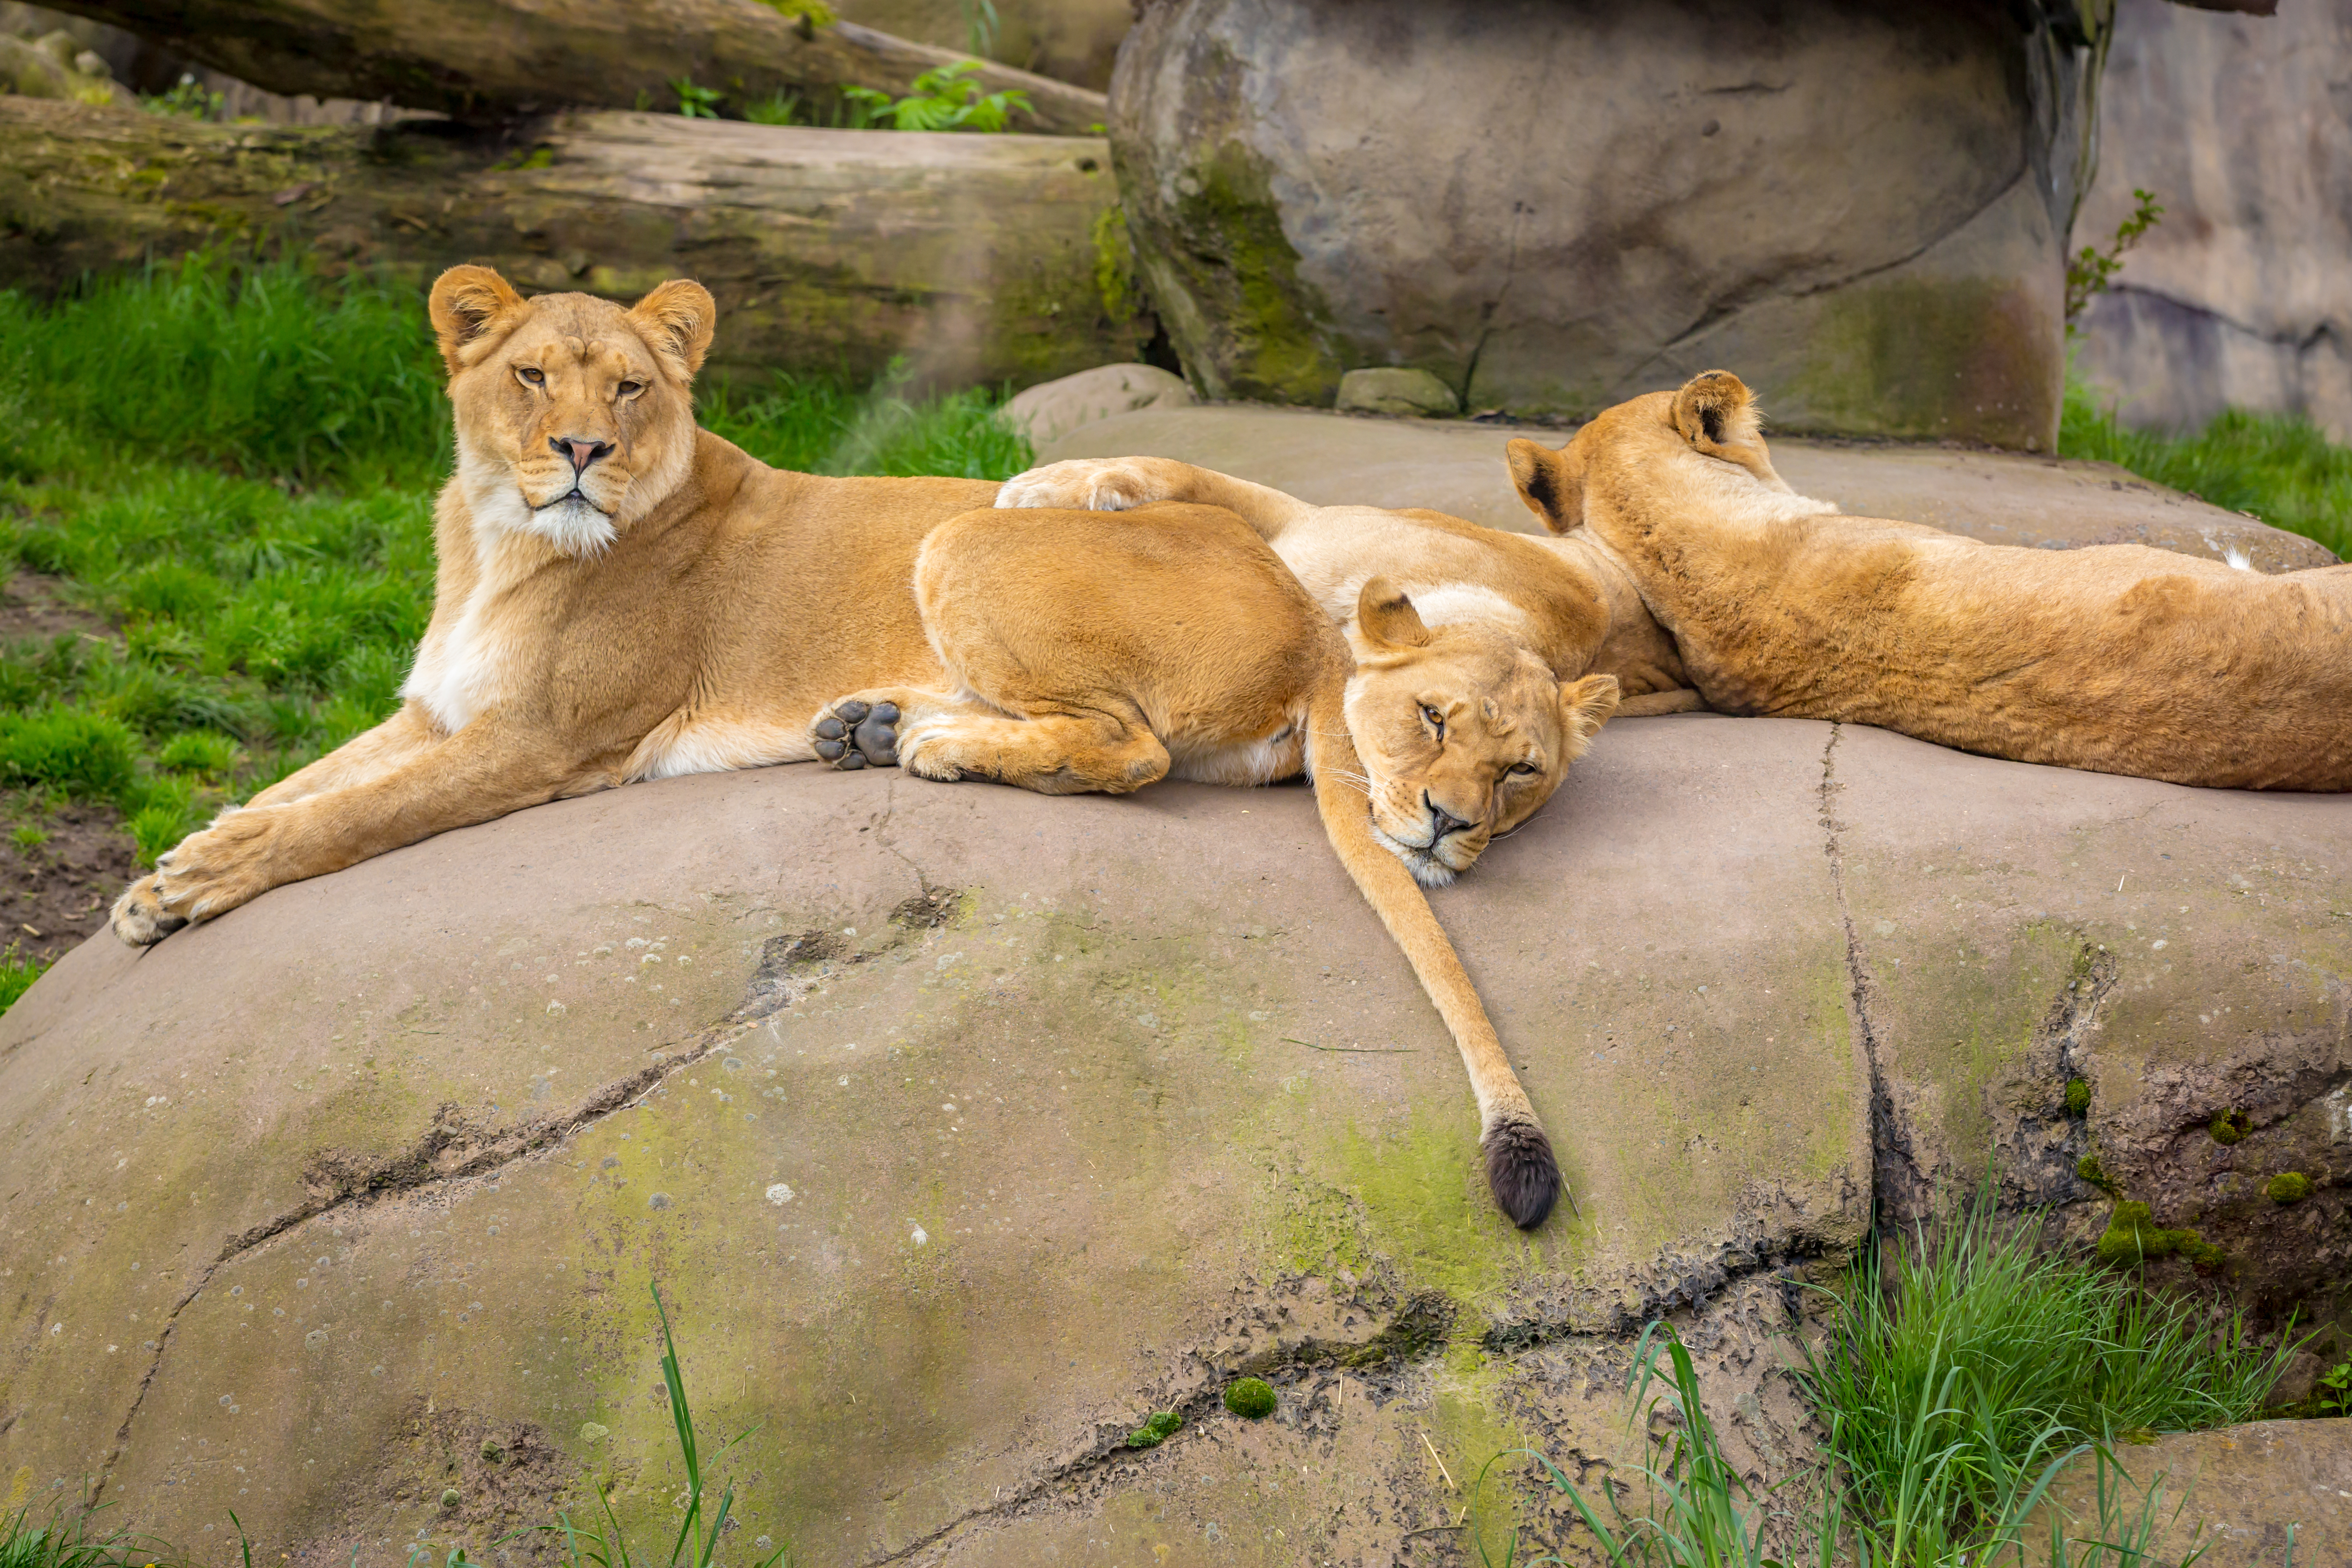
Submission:
[[[2187,785],[2352,788],[2352,567],[2263,576],[1844,517],[1780,480],[1759,430],[1738,376],[1705,371],[1559,451],[1510,444],[1526,505],[1625,564],[1710,708]]]

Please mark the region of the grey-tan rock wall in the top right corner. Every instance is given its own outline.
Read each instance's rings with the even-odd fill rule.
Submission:
[[[2074,242],[2105,244],[2136,188],[2166,216],[2084,313],[2082,374],[2136,425],[2241,407],[2352,442],[2352,0],[2122,0]]]

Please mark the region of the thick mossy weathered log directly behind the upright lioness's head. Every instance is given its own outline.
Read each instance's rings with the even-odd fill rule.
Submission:
[[[482,261],[529,289],[635,299],[696,277],[713,362],[1028,386],[1136,357],[1105,303],[1110,158],[1077,136],[826,132],[562,113],[240,127],[0,99],[0,287],[221,237],[426,280]]]

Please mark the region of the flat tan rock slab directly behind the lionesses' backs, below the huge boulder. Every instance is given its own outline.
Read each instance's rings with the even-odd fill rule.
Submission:
[[[1098,374],[1098,371],[1091,371]],[[1025,393],[1040,404],[1061,386]],[[1310,409],[1152,407],[1103,414],[1037,437],[1037,461],[1162,456],[1272,484],[1317,505],[1428,505],[1489,529],[1541,534],[1503,463],[1503,444],[1529,435],[1548,444],[1566,430],[1496,428],[1437,418],[1348,418]],[[2328,567],[2326,545],[2265,522],[2150,484],[2112,463],[1771,437],[1773,465],[1806,496],[1837,501],[1858,517],[1900,517],[1994,545],[2157,545],[2206,559],[2241,555],[2258,571]]]

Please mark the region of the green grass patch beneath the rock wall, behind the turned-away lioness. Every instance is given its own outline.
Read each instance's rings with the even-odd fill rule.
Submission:
[[[2173,489],[2352,555],[2352,447],[2307,418],[2230,409],[2197,435],[2129,430],[2100,397],[2067,381],[2058,451],[2117,463]]]

